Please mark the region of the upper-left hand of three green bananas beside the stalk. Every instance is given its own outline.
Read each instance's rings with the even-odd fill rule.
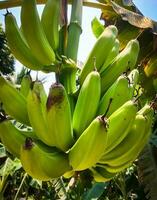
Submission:
[[[60,0],[48,0],[41,19],[36,0],[23,0],[21,27],[11,13],[6,13],[5,33],[8,45],[21,64],[32,70],[57,70],[55,63],[59,45],[59,14]]]

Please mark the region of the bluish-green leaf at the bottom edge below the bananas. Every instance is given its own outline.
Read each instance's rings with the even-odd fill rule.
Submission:
[[[83,200],[97,200],[104,192],[108,183],[95,183],[93,187],[85,193]]]

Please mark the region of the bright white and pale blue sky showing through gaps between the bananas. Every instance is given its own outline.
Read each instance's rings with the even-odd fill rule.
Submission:
[[[140,11],[147,17],[150,17],[153,20],[157,21],[157,0],[133,0],[135,5],[140,9]],[[70,8],[69,9],[69,16],[70,16]],[[43,6],[38,6],[39,13],[42,12]],[[13,8],[9,9],[17,18],[18,23],[20,23],[20,9]],[[4,16],[5,10],[0,10],[0,23],[4,25]],[[91,30],[91,21],[94,17],[100,18],[101,11],[99,9],[93,9],[88,7],[83,7],[83,20],[82,20],[82,29],[83,32],[80,37],[79,43],[79,51],[78,51],[78,60],[84,62],[91,51],[96,38],[94,37],[92,30]],[[103,23],[103,22],[102,22]],[[21,69],[20,64],[17,62],[16,69],[19,71]],[[49,74],[50,78],[52,79],[52,74]]]

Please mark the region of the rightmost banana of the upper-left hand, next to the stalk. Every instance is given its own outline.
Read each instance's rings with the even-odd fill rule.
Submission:
[[[41,23],[53,50],[59,47],[60,0],[47,0],[41,16]]]

